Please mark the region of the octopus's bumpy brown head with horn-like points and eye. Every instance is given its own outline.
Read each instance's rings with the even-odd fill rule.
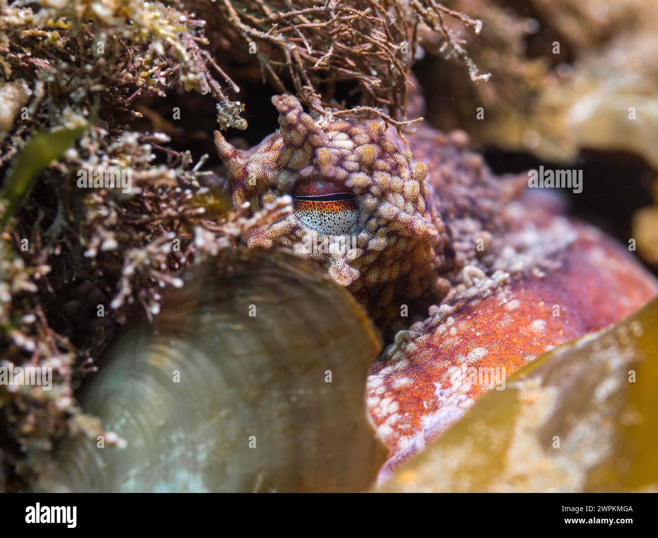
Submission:
[[[250,215],[283,195],[293,201],[293,212],[254,230],[247,243],[320,262],[390,326],[449,264],[427,166],[411,162],[381,122],[320,125],[291,95],[272,103],[281,128],[257,147],[239,151],[215,132],[234,205],[249,202]]]

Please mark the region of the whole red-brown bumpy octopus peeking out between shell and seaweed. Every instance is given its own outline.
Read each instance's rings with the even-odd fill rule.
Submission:
[[[626,249],[562,216],[549,197],[524,193],[518,178],[495,178],[462,132],[420,126],[411,162],[381,122],[317,124],[290,95],[272,103],[280,132],[248,152],[216,132],[218,152],[247,216],[285,194],[300,211],[317,207],[320,221],[325,203],[326,214],[345,211],[336,224],[295,210],[246,239],[316,259],[394,334],[367,379],[368,410],[390,449],[382,477],[505,376],[658,293]],[[356,249],[306,248],[309,226],[320,222],[321,239],[349,219]]]

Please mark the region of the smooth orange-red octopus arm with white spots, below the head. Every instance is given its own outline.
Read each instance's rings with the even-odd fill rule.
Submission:
[[[572,224],[572,223],[569,223]],[[483,283],[401,333],[368,378],[367,402],[395,468],[455,422],[478,395],[552,346],[618,322],[658,293],[655,279],[594,228],[548,270]],[[544,232],[550,235],[551,232]]]

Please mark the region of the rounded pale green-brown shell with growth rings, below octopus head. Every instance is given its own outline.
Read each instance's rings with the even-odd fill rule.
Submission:
[[[284,252],[234,251],[182,278],[80,397],[127,447],[68,439],[39,489],[367,489],[386,450],[364,402],[381,344],[361,306]]]

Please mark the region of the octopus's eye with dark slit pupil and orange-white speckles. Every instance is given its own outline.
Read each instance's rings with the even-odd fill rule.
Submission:
[[[357,222],[357,200],[334,182],[305,182],[295,189],[295,215],[323,235],[349,233]]]

